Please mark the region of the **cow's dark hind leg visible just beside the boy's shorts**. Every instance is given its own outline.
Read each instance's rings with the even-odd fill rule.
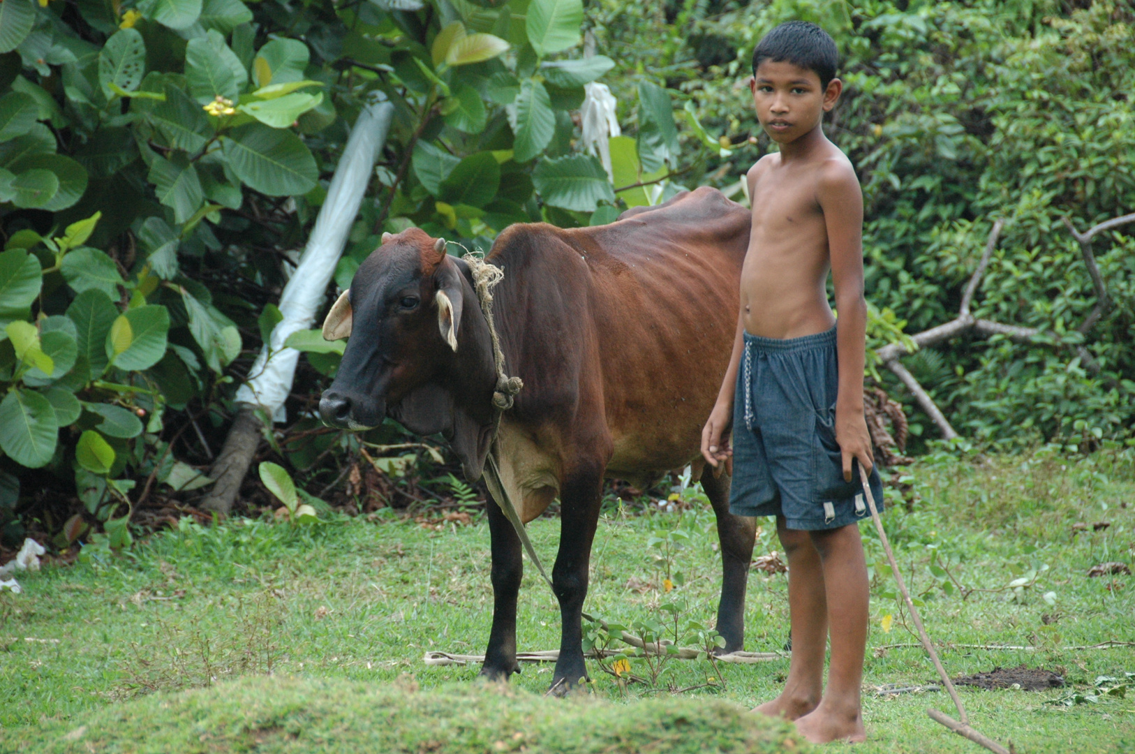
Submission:
[[[713,476],[713,467],[701,472],[701,488],[717,514],[717,538],[721,542],[721,602],[717,604],[717,632],[725,639],[725,652],[738,652],[745,645],[745,590],[753,560],[756,519],[729,512],[729,477]]]

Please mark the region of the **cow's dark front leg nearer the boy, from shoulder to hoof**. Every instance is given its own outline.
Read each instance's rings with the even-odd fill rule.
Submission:
[[[602,492],[602,468],[570,476],[560,489],[560,552],[552,569],[552,585],[560,600],[563,631],[560,659],[552,679],[553,693],[557,695],[571,692],[588,677],[583,663],[581,620]]]

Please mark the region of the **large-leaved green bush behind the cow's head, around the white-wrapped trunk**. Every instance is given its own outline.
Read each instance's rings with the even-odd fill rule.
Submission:
[[[395,116],[342,286],[384,231],[418,225],[487,250],[512,223],[587,224],[599,202],[598,218],[615,215],[620,186],[574,145],[570,112],[614,65],[572,51],[580,0],[8,0],[2,20],[9,542],[24,533],[17,496],[47,481],[30,469],[75,478],[82,511],[35,512],[58,544],[95,521],[107,544],[128,544],[154,483],[208,484],[170,437],[192,426],[211,458],[196,420],[224,430],[249,354],[279,321],[286,250],[302,245],[363,103],[385,98]],[[644,174],[639,148],[650,178],[676,159],[670,97],[640,90],[638,143],[624,139],[613,161],[625,184]],[[648,201],[631,193],[624,204]],[[295,345],[316,353],[300,389],[316,394],[338,354],[305,335]],[[289,460],[309,466],[335,439]]]

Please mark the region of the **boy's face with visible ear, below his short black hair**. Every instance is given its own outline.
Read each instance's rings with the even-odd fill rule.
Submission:
[[[819,85],[815,70],[788,61],[762,60],[749,79],[757,119],[774,142],[790,144],[815,128],[843,91],[839,78]]]

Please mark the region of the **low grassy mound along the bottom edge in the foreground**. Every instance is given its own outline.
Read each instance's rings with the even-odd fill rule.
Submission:
[[[721,701],[617,704],[552,699],[516,688],[418,690],[312,678],[247,677],[157,694],[84,720],[0,732],[15,752],[802,752],[788,723]]]

